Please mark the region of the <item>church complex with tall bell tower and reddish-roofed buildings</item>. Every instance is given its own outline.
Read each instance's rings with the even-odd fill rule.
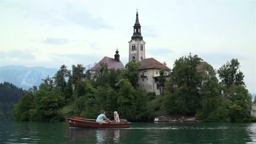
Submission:
[[[158,77],[160,76],[159,71],[161,69],[165,70],[165,76],[170,75],[170,70],[164,64],[160,63],[154,58],[146,59],[146,42],[144,42],[141,35],[141,25],[139,23],[139,14],[138,10],[136,12],[136,20],[133,26],[133,35],[129,44],[129,61],[136,61],[140,63],[139,66],[139,88],[144,89],[147,92],[154,92],[156,95],[160,95],[160,86]],[[108,69],[125,69],[123,63],[120,61],[120,55],[117,50],[115,53],[115,58],[110,58],[105,56],[99,63],[97,63],[91,72],[95,73],[97,69],[101,66],[102,63],[108,65]]]

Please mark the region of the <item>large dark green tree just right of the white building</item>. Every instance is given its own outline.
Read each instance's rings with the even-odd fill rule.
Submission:
[[[174,62],[171,80],[168,83],[165,109],[169,113],[181,112],[193,115],[201,107],[202,97],[199,93],[203,73],[197,72],[197,65],[202,61],[197,55],[183,56]],[[170,104],[168,104],[168,102]]]

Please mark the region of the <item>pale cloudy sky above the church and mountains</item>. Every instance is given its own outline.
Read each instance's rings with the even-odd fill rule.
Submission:
[[[138,8],[146,58],[197,54],[219,69],[235,58],[256,93],[255,0],[0,0],[0,66],[59,68],[104,56],[128,62]]]

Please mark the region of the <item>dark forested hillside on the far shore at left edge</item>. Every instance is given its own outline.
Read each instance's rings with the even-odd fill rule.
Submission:
[[[0,83],[0,120],[13,120],[13,107],[23,94],[22,88],[12,83]]]

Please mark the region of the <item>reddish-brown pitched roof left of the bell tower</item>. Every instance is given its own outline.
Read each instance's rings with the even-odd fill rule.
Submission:
[[[103,59],[101,59],[101,61],[99,61],[98,64],[96,64],[93,68],[91,68],[91,71],[99,69],[101,67],[101,64],[103,63],[107,64],[108,69],[115,69],[115,70],[125,69],[121,61],[118,62],[115,59],[105,56]]]

